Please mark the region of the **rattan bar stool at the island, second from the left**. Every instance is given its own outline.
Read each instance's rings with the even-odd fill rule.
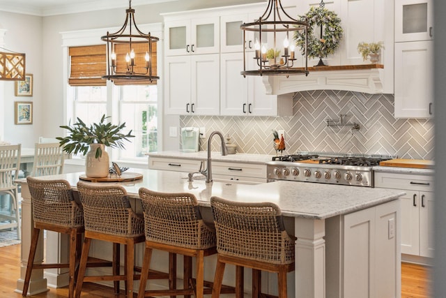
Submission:
[[[77,183],[79,198],[84,207],[85,237],[77,276],[76,296],[80,297],[84,281],[114,281],[119,292],[119,281],[125,281],[125,292],[132,297],[134,271],[134,244],[144,242],[144,218],[134,213],[128,195],[122,186]],[[92,239],[113,243],[114,265],[112,275],[85,276],[86,260]],[[125,245],[124,274],[119,273],[119,245]]]

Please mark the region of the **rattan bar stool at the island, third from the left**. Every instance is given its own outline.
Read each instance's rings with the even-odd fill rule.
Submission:
[[[194,295],[197,298],[212,292],[212,283],[204,281],[204,257],[217,253],[215,230],[201,218],[197,198],[192,193],[159,193],[139,189],[144,211],[146,248],[138,297]],[[146,280],[153,249],[184,255],[183,289],[147,290]],[[196,258],[195,283],[192,281],[192,257]],[[175,274],[174,274],[175,275]],[[206,288],[205,288],[206,286]],[[234,292],[224,286],[222,292]]]

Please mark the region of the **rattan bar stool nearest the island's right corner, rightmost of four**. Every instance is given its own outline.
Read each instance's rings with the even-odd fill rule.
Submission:
[[[261,297],[261,271],[278,274],[279,298],[286,298],[286,273],[294,270],[294,239],[286,233],[276,204],[210,198],[217,232],[217,269],[212,298],[220,297],[226,264],[252,268],[252,297]],[[243,271],[236,271],[238,284]],[[238,289],[237,297],[243,297]]]

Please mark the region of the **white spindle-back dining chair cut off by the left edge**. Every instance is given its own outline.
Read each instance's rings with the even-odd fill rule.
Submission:
[[[21,239],[19,192],[14,180],[20,171],[20,151],[22,144],[0,146],[0,194],[10,196],[10,210],[8,214],[0,213],[0,230],[17,229],[17,239]]]

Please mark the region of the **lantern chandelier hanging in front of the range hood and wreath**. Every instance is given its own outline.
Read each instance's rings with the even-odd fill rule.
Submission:
[[[295,43],[292,39],[295,31],[305,31],[307,36],[308,22],[298,21],[290,17],[284,10],[281,0],[268,0],[268,7],[259,20],[240,25],[243,40],[246,32],[254,32],[254,70],[247,70],[246,47],[243,49],[243,71],[246,75],[308,75],[307,45],[305,45],[304,68],[296,68]],[[291,34],[290,34],[291,32]],[[282,47],[283,45],[283,47]],[[283,49],[283,52],[282,52]]]

